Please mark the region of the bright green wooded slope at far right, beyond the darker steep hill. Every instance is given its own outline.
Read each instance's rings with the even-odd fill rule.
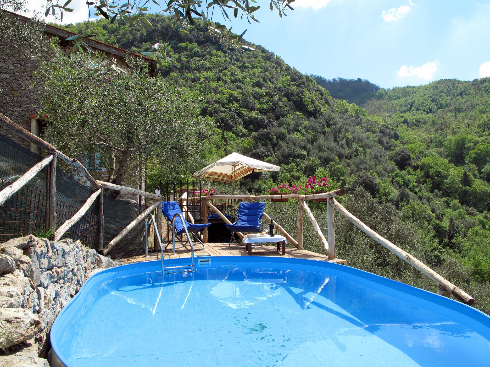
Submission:
[[[490,78],[381,89],[365,107],[399,134],[395,204],[490,280]]]

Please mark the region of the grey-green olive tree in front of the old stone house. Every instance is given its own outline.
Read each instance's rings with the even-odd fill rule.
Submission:
[[[37,72],[50,143],[74,154],[99,152],[104,178],[114,184],[123,184],[139,157],[161,165],[169,178],[200,163],[213,124],[198,115],[195,93],[149,77],[147,65],[135,58],[127,60],[128,69],[113,72],[105,71],[101,55],[58,51],[53,59]]]

